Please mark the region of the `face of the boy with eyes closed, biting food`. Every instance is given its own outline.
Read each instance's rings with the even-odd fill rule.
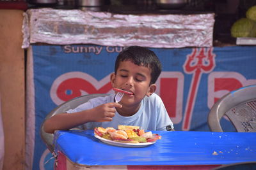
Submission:
[[[120,104],[123,106],[139,106],[145,96],[150,96],[156,85],[150,85],[151,69],[138,66],[131,61],[122,61],[116,71],[111,74],[112,86],[118,89],[132,92],[132,95],[125,94]]]

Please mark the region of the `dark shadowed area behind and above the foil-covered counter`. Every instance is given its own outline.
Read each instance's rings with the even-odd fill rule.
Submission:
[[[93,0],[100,6],[83,6],[86,0],[0,0],[0,9],[56,8],[108,11],[121,14],[196,14],[215,13],[214,46],[236,45],[236,38],[230,36],[232,24],[245,17],[246,10],[256,5],[256,0],[187,0],[177,8],[157,6],[157,0]],[[40,2],[40,3],[39,3]]]

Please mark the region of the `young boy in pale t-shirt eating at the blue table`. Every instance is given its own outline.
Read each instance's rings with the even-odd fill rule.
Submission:
[[[54,115],[45,121],[44,130],[68,130],[74,127],[94,129],[118,125],[136,125],[146,131],[171,131],[173,123],[157,94],[156,80],[161,73],[156,54],[141,46],[125,48],[116,58],[111,85],[132,92],[115,103],[115,94],[97,97],[67,113]]]

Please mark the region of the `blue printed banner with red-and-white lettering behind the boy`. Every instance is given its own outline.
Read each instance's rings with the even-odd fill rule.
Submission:
[[[109,75],[124,47],[33,45],[28,57],[26,160],[29,169],[53,169],[40,125],[59,104],[77,96],[112,93]],[[163,64],[156,93],[176,131],[209,131],[212,105],[231,90],[256,84],[256,47],[150,48]],[[235,131],[221,120],[225,131]],[[47,162],[49,160],[49,162]],[[47,164],[45,164],[47,162]]]

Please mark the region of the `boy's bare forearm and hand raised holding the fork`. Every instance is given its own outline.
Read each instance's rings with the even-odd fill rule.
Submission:
[[[116,109],[122,108],[119,103],[106,103],[90,110],[76,113],[60,113],[45,120],[44,131],[54,133],[56,130],[68,130],[87,122],[110,122],[115,116]]]

